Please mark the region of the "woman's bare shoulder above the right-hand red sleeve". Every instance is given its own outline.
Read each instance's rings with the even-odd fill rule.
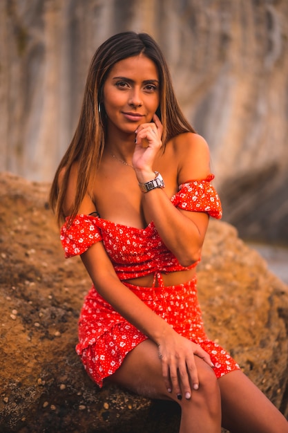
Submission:
[[[173,138],[180,183],[206,178],[210,174],[210,151],[207,141],[198,133],[182,133]]]

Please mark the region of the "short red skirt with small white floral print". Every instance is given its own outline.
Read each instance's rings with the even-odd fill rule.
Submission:
[[[160,273],[156,277],[157,287],[155,284],[152,287],[124,284],[177,333],[200,344],[209,353],[217,378],[240,369],[227,351],[207,338],[198,303],[196,277],[177,286],[164,286]],[[104,378],[122,365],[127,353],[147,338],[119,315],[94,287],[90,289],[81,309],[76,350],[88,375],[99,387],[102,387]]]

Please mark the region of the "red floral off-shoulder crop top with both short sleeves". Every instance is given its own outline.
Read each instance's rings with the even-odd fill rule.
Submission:
[[[180,185],[171,203],[191,212],[207,212],[220,219],[222,208],[219,196],[211,185],[213,175],[200,181]],[[94,243],[102,241],[119,279],[142,277],[155,272],[169,273],[184,268],[166,248],[153,221],[139,229],[113,223],[99,216],[79,214],[68,225],[69,217],[61,228],[61,243],[66,258],[81,255]]]

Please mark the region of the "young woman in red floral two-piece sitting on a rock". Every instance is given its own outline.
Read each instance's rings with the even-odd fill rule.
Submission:
[[[156,114],[157,113],[157,114]],[[86,371],[182,408],[181,433],[287,433],[288,423],[204,332],[195,267],[221,216],[207,143],[148,35],[120,33],[90,64],[50,203],[66,257],[93,281],[79,319]]]

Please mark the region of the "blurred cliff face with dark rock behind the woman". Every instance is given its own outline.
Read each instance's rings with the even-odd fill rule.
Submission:
[[[224,219],[288,242],[286,0],[10,0],[0,4],[0,170],[50,181],[104,39],[150,33],[209,142]]]

